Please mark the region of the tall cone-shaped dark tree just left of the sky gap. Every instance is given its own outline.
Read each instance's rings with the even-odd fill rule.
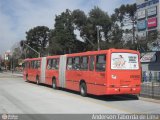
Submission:
[[[55,18],[55,29],[50,33],[49,51],[52,54],[73,53],[76,50],[76,35],[72,12],[66,9]]]

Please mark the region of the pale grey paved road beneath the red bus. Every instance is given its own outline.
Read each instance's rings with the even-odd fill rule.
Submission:
[[[81,97],[0,73],[0,113],[160,113],[160,103],[124,96]]]

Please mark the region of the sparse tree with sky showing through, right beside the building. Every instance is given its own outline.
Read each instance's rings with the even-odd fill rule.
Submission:
[[[124,44],[130,41],[132,43],[130,47],[135,43],[135,17],[136,4],[121,5],[119,8],[115,9],[115,13],[111,16],[113,26],[119,26],[120,35],[118,36],[120,41]]]

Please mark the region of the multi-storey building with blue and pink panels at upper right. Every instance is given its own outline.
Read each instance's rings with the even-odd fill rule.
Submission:
[[[160,1],[136,0],[137,37],[146,39],[160,33]]]

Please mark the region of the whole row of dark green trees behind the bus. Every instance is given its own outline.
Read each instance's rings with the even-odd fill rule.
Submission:
[[[136,4],[121,5],[112,15],[108,15],[99,7],[94,7],[88,14],[79,9],[73,11],[66,9],[55,16],[54,29],[37,26],[26,32],[25,43],[42,56],[97,50],[98,37],[101,49],[147,50],[148,41],[139,42],[135,36],[135,14]],[[80,41],[76,37],[75,30],[80,32],[83,40]],[[148,36],[151,42],[152,38],[153,36]],[[23,47],[23,50],[26,51],[27,57],[37,56],[28,48]]]

